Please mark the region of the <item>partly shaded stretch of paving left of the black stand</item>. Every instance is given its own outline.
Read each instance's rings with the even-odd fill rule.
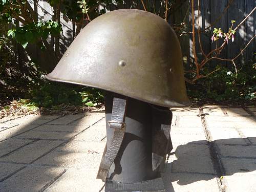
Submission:
[[[98,191],[104,127],[104,112],[0,123],[0,191]]]

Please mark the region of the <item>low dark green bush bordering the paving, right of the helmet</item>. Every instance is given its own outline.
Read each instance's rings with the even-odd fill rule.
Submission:
[[[197,84],[188,84],[190,97],[197,99],[252,100],[256,98],[256,63],[248,62],[239,71],[231,71],[226,67],[217,66],[215,73],[199,79]],[[204,73],[211,70],[204,68]]]

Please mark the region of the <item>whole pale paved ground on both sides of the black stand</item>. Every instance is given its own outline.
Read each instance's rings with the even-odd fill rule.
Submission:
[[[167,192],[256,191],[256,108],[173,108]],[[0,119],[0,191],[104,191],[104,112]]]

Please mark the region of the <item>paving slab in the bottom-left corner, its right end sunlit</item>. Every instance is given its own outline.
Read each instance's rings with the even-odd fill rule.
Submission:
[[[1,192],[42,191],[63,173],[60,167],[28,166],[0,184]]]

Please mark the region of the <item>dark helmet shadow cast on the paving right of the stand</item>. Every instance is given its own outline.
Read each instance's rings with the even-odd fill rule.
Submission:
[[[210,145],[213,145],[216,152],[211,152]],[[175,157],[167,164],[163,174],[167,192],[174,191],[172,182],[187,185],[221,176],[225,178],[233,174],[254,172],[256,137],[189,142],[179,145],[171,155]]]

